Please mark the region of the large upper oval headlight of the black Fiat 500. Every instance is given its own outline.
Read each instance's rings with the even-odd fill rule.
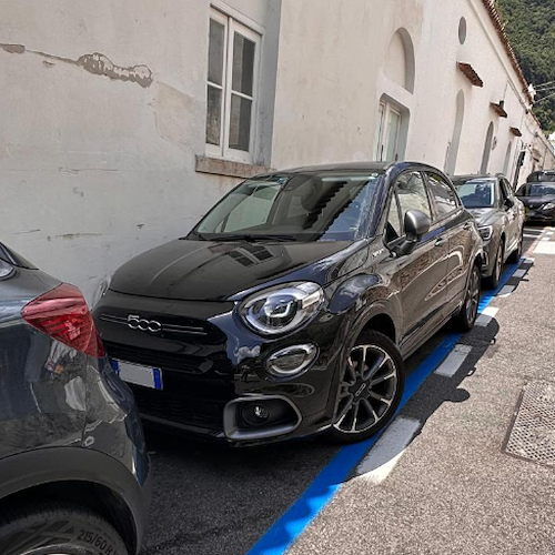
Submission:
[[[324,292],[316,283],[287,283],[246,299],[240,314],[256,333],[279,335],[307,323],[323,302]]]

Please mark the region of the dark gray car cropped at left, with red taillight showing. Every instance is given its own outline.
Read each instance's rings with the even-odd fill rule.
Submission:
[[[149,460],[80,291],[0,243],[0,553],[138,553]]]

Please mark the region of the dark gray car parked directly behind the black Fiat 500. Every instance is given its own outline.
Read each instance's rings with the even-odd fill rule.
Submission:
[[[484,241],[482,276],[488,286],[496,287],[505,261],[517,262],[521,258],[523,203],[502,175],[457,175],[453,182]]]

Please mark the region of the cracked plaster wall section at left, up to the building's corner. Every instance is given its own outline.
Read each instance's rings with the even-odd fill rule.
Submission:
[[[271,59],[280,1],[228,4],[269,29]],[[205,153],[209,9],[209,0],[0,0],[0,241],[89,300],[105,275],[186,233],[240,181],[194,171]],[[260,145],[272,135],[272,79],[264,83],[259,132],[270,140]]]

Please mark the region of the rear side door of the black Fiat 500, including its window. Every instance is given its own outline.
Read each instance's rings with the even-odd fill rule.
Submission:
[[[434,229],[448,240],[448,264],[445,287],[445,316],[464,300],[470,264],[473,262],[473,218],[464,210],[448,179],[438,172],[426,171],[432,199]]]

